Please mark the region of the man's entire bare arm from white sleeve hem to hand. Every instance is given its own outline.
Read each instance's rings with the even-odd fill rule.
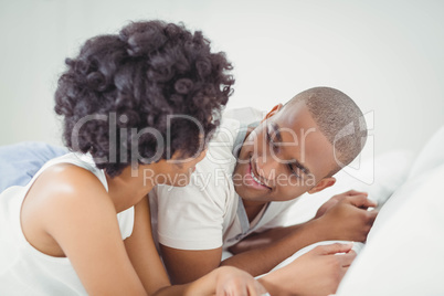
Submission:
[[[162,246],[166,266],[175,283],[187,283],[202,276],[220,265],[235,266],[257,276],[269,272],[278,263],[304,246],[318,241],[348,240],[366,241],[377,212],[364,209],[374,207],[367,197],[346,197],[315,220],[294,228],[276,229],[256,235],[262,246],[239,253],[222,263],[221,249],[184,251]],[[281,237],[279,237],[281,236]],[[277,237],[273,241],[269,237]]]

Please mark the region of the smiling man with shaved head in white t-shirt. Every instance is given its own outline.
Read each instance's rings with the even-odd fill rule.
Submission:
[[[150,193],[172,282],[189,283],[220,265],[256,276],[318,241],[364,241],[377,212],[367,211],[376,204],[362,192],[335,197],[307,223],[283,228],[283,221],[297,197],[335,183],[366,137],[361,110],[329,87],[275,106],[256,127],[224,120],[190,186]],[[234,256],[223,260],[226,250]]]

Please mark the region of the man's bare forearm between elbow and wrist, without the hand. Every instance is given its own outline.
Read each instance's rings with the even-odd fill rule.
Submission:
[[[273,234],[269,239],[263,233],[261,237],[252,239],[249,246],[245,245],[247,251],[224,260],[221,265],[239,267],[253,276],[267,273],[298,250],[319,241],[320,229],[318,221],[311,220],[293,229],[276,229],[274,233],[268,233]],[[254,241],[262,241],[262,245],[254,247]]]

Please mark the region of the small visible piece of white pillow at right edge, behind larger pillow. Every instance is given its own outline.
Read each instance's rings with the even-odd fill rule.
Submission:
[[[420,176],[422,172],[435,168],[441,163],[444,163],[444,126],[432,136],[421,150],[412,166],[409,179]]]

